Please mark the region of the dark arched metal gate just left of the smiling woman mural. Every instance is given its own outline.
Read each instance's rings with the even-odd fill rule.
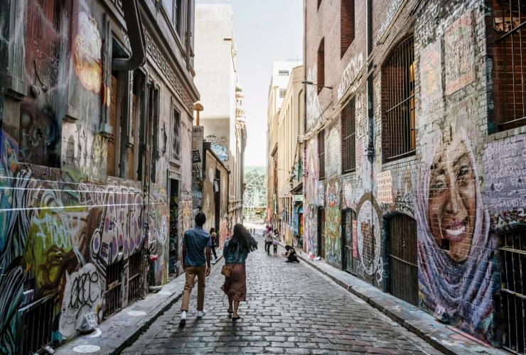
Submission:
[[[418,305],[417,221],[404,214],[387,220],[390,293]]]

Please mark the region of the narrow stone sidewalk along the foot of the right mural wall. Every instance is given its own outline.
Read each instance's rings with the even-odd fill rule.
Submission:
[[[281,241],[279,245],[282,248],[285,246]],[[448,324],[439,322],[418,307],[384,293],[382,290],[365,283],[349,273],[345,273],[345,271],[340,271],[324,261],[311,261],[304,251],[300,251],[296,255],[308,266],[326,275],[334,283],[353,293],[353,295],[360,297],[361,300],[380,310],[392,321],[397,322],[397,324],[444,354],[508,354],[500,349],[490,347]],[[323,266],[329,268],[329,271],[332,271],[332,273],[324,270]],[[338,273],[345,273],[344,277],[348,279],[348,282],[338,278],[338,275],[335,275]]]

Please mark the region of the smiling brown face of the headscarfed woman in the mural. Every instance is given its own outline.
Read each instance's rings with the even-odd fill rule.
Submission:
[[[429,229],[436,244],[449,241],[449,257],[465,261],[476,219],[476,178],[463,140],[444,143],[435,153],[429,180]],[[443,248],[445,249],[445,248]]]

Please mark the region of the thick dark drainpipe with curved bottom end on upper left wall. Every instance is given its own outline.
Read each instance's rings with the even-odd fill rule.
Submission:
[[[129,71],[136,70],[146,62],[146,41],[142,28],[141,15],[137,6],[137,0],[122,1],[122,11],[126,22],[128,38],[132,47],[130,58],[114,58],[112,60],[112,70]]]

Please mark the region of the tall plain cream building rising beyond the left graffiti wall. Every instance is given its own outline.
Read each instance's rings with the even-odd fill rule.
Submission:
[[[228,231],[242,222],[245,112],[237,85],[236,47],[230,4],[195,6],[195,84],[204,110],[200,125],[205,141],[230,170]],[[194,186],[195,187],[195,186]],[[197,187],[195,187],[197,189]],[[195,206],[202,207],[199,203]]]

